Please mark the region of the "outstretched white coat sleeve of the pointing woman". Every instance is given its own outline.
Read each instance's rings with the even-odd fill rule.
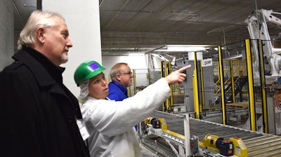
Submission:
[[[170,95],[168,83],[161,78],[122,102],[96,100],[95,103],[86,102],[81,110],[86,121],[91,121],[98,132],[111,137],[143,121]]]

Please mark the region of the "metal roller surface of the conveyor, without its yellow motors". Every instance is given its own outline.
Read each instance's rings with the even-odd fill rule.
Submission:
[[[165,118],[168,130],[184,135],[183,116],[155,111],[152,117]],[[247,146],[248,156],[281,156],[280,136],[252,132],[250,130],[197,120],[195,118],[189,118],[189,122],[190,137],[195,135],[199,137],[200,142],[202,142],[204,137],[209,133],[218,137],[223,137],[224,139],[239,137]]]

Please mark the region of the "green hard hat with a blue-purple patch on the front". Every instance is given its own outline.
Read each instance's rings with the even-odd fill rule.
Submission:
[[[79,83],[97,76],[104,70],[105,68],[96,61],[82,62],[74,72],[74,81],[79,86]]]

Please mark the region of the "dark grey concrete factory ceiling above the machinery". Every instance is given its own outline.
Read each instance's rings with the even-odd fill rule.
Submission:
[[[15,32],[40,0],[13,0]],[[167,45],[220,46],[249,39],[256,8],[281,13],[280,0],[99,0],[103,55],[147,53]],[[39,5],[40,6],[40,5]],[[281,18],[281,15],[276,15]],[[271,39],[280,26],[268,23]]]

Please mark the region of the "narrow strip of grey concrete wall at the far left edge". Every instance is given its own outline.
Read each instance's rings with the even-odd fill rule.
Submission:
[[[0,71],[11,64],[13,52],[13,1],[0,1]]]

